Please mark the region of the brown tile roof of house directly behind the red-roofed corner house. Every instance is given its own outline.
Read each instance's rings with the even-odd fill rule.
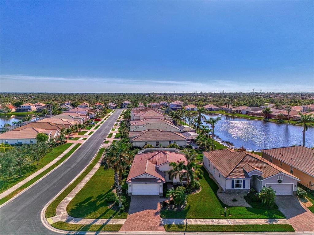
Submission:
[[[131,132],[130,132],[131,133]],[[182,134],[172,131],[161,131],[158,129],[149,129],[143,131],[132,141],[167,141],[167,140],[187,140]]]

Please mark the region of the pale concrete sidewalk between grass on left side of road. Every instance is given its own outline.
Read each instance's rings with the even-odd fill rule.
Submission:
[[[21,187],[22,185],[24,185],[25,183],[27,183],[28,181],[32,180],[33,178],[35,178],[37,175],[41,174],[41,172],[45,171],[46,169],[48,169],[49,167],[51,167],[53,164],[55,164],[57,161],[59,161],[65,154],[67,154],[71,149],[74,148],[74,146],[76,145],[76,143],[72,144],[70,147],[68,147],[68,149],[66,149],[62,154],[60,154],[58,157],[56,157],[55,159],[53,159],[51,162],[49,162],[47,165],[45,165],[44,167],[42,167],[41,169],[37,170],[34,174],[28,176],[27,178],[25,178],[24,180],[20,181],[19,183],[17,183],[16,185],[12,186],[11,188],[9,188],[8,190],[4,191],[3,193],[0,194],[0,199],[8,196],[10,193],[12,193],[13,191],[17,190],[19,187]]]

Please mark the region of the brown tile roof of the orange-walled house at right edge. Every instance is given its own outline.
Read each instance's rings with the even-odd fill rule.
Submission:
[[[314,176],[314,149],[298,145],[275,149],[262,149],[261,151],[306,174]]]

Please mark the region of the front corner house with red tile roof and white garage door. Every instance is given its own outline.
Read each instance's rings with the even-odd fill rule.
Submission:
[[[170,177],[168,174],[171,162],[186,164],[187,160],[184,154],[165,150],[135,155],[127,176],[128,195],[163,195],[164,183],[179,183],[178,175]]]

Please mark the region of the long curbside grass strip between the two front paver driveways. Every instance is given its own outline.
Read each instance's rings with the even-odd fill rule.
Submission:
[[[167,232],[294,232],[290,224],[243,224],[243,225],[164,225]]]

